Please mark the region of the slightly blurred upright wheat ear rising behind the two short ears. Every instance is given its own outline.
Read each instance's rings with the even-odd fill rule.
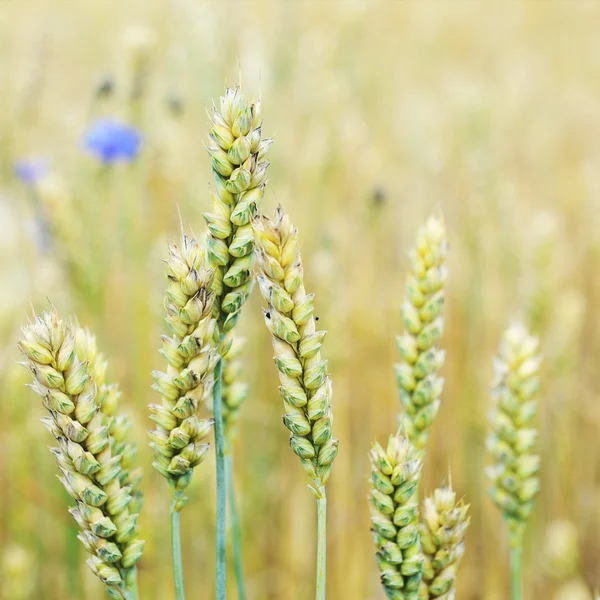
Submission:
[[[434,215],[417,233],[410,253],[402,321],[405,332],[396,341],[402,361],[395,365],[405,413],[401,424],[411,442],[422,450],[439,406],[444,380],[438,371],[445,353],[438,347],[443,329],[444,282],[447,277],[446,227]]]

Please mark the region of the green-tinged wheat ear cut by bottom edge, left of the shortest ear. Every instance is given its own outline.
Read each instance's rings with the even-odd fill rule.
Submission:
[[[371,531],[381,584],[390,600],[417,600],[423,568],[417,485],[421,460],[408,438],[371,449]]]

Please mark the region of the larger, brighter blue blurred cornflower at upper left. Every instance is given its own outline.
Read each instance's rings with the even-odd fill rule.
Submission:
[[[98,119],[83,138],[86,150],[106,165],[131,162],[138,155],[141,143],[137,129],[114,119]]]

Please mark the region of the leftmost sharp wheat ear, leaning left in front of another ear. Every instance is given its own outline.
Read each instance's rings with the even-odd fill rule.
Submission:
[[[78,357],[75,331],[55,312],[43,312],[25,327],[19,347],[34,376],[30,387],[50,413],[43,423],[58,442],[52,453],[76,501],[69,512],[91,554],[88,564],[112,598],[128,597],[144,542],[137,538],[137,515],[128,509],[131,488],[121,484],[122,456],[113,453],[97,394],[94,374],[104,364]]]

